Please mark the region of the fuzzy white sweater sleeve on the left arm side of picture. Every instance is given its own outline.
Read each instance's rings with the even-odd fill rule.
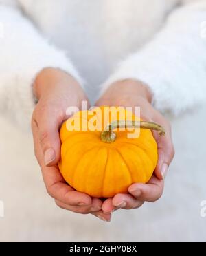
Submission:
[[[56,67],[82,80],[65,52],[43,39],[19,11],[0,6],[0,22],[0,111],[24,127],[34,110],[32,83],[38,72]]]

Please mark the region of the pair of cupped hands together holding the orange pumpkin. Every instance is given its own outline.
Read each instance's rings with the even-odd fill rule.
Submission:
[[[58,169],[60,160],[59,129],[67,120],[67,108],[80,109],[82,100],[88,100],[75,78],[62,70],[43,70],[34,82],[34,95],[38,99],[32,116],[34,150],[41,167],[43,180],[49,195],[62,208],[76,213],[95,215],[109,222],[117,209],[137,209],[144,202],[155,202],[163,194],[164,180],[174,157],[170,123],[151,105],[151,93],[146,85],[128,79],[117,81],[108,87],[96,106],[141,107],[141,118],[157,122],[166,130],[165,136],[154,132],[157,140],[159,162],[148,184],[132,184],[128,193],[117,194],[104,201],[75,191],[62,178]]]

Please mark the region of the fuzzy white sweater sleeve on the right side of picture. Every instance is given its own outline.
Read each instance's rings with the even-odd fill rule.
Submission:
[[[206,41],[201,23],[206,1],[172,12],[164,28],[142,50],[126,59],[104,84],[133,78],[146,83],[160,111],[181,114],[206,99]],[[201,59],[200,59],[201,58]]]

